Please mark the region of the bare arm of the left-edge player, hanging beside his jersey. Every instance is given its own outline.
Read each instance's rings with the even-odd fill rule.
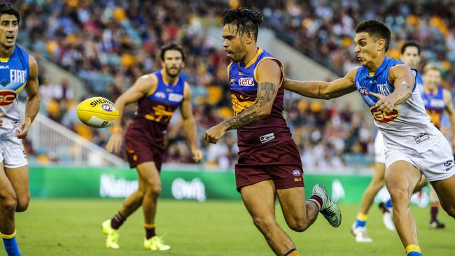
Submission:
[[[38,88],[38,63],[34,57],[29,55],[30,77],[25,85],[27,102],[25,103],[25,119],[20,124],[20,129],[16,131],[16,137],[25,138],[29,131],[31,122],[35,119],[39,111],[39,88]]]

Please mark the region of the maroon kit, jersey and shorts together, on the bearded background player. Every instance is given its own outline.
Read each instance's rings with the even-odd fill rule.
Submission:
[[[186,83],[182,76],[174,84],[166,83],[162,71],[148,76],[155,76],[158,85],[139,99],[137,113],[125,134],[125,148],[130,167],[153,161],[159,170],[165,151],[167,125],[183,100]]]

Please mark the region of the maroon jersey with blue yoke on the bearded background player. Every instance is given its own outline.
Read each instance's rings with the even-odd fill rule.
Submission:
[[[158,85],[155,90],[137,102],[136,115],[127,133],[136,136],[139,140],[164,143],[169,120],[183,100],[185,80],[179,75],[174,85],[170,85],[163,80],[161,71],[151,73],[149,76],[155,76]]]

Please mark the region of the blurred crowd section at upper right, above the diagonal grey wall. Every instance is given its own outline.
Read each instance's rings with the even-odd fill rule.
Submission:
[[[391,28],[388,55],[400,57],[404,41],[422,46],[424,64],[431,62],[443,70],[444,86],[455,83],[455,6],[453,1],[411,0],[273,0],[248,1],[259,4],[268,27],[280,38],[306,55],[339,73],[347,73],[358,60],[353,54],[353,36],[358,22],[384,21]]]

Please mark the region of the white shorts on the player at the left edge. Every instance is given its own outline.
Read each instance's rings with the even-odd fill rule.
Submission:
[[[0,162],[3,162],[6,168],[18,168],[29,164],[22,139],[16,137],[0,139]]]

